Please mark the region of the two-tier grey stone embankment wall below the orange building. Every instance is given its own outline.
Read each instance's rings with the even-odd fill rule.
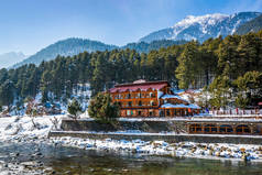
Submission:
[[[162,140],[170,143],[233,143],[233,144],[261,144],[260,135],[232,135],[232,134],[187,134],[185,120],[119,120],[116,123],[99,123],[91,119],[70,120],[64,119],[61,131],[51,131],[48,136],[73,136],[94,140]],[[236,121],[238,122],[238,121]],[[239,122],[243,122],[242,120]]]

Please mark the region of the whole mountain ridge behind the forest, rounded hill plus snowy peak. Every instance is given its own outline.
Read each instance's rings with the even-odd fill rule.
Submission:
[[[197,40],[201,43],[210,37],[218,37],[219,35],[225,37],[229,34],[234,34],[239,26],[261,14],[260,12],[239,12],[234,14],[187,15],[171,28],[152,32],[140,39],[139,42],[128,43],[124,46],[105,44],[89,39],[70,37],[48,45],[11,68],[20,67],[24,64],[39,65],[41,62],[54,59],[58,55],[73,56],[81,52],[130,48],[140,53],[148,53],[160,47],[185,44],[192,40]]]

